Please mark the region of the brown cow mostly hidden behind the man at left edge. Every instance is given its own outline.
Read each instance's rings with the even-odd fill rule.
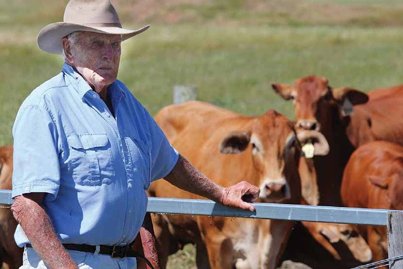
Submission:
[[[13,175],[13,146],[0,147],[0,189],[11,190]],[[17,221],[8,205],[0,204],[0,261],[4,267],[17,269],[22,265],[23,249],[14,240]],[[0,262],[1,264],[1,262]]]

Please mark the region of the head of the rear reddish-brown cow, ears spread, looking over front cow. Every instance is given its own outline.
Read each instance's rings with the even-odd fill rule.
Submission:
[[[341,117],[349,116],[352,107],[368,101],[368,95],[356,89],[332,89],[323,77],[307,76],[294,85],[272,83],[273,90],[285,100],[292,100],[297,129],[319,131],[329,107],[336,106]]]

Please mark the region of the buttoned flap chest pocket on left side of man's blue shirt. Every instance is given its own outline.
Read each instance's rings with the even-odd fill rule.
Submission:
[[[79,185],[110,184],[115,177],[111,143],[105,133],[70,134],[69,163]]]

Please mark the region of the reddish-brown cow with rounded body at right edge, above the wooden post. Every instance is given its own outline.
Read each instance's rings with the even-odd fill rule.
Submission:
[[[346,206],[403,210],[403,147],[387,141],[360,146],[348,160],[341,184]],[[362,226],[374,260],[386,259],[386,226]]]

